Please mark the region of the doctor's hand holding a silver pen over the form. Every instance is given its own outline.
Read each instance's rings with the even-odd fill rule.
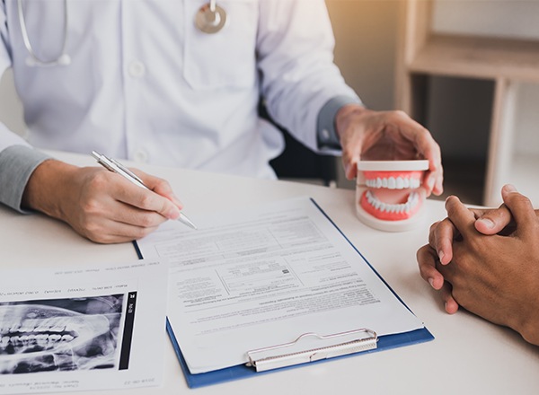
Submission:
[[[31,174],[22,207],[71,225],[91,241],[133,241],[180,216],[181,202],[165,180],[142,171],[147,190],[100,167],[76,167],[48,160]]]

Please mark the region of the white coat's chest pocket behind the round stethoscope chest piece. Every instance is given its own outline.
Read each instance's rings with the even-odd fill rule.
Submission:
[[[256,81],[259,0],[217,0],[225,26],[209,34],[195,25],[195,15],[209,0],[187,0],[183,75],[195,90],[245,88]]]

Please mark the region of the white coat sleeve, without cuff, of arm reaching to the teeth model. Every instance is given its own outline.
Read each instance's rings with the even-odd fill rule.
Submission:
[[[358,102],[333,62],[334,37],[323,0],[261,0],[257,39],[261,92],[270,116],[320,152],[320,111],[335,98]]]

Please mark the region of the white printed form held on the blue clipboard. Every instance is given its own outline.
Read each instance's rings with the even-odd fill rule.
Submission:
[[[246,352],[320,335],[423,328],[309,198],[165,224],[138,241],[169,259],[168,318],[190,373],[243,364]]]

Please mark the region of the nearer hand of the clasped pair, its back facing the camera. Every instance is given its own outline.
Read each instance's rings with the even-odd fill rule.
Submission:
[[[421,276],[429,280],[424,269],[435,265],[455,303],[539,345],[539,218],[529,199],[514,187],[502,190],[514,219],[512,233],[478,232],[473,212],[450,197],[447,215],[458,232],[452,259],[443,265],[436,250],[422,247],[418,251]]]

